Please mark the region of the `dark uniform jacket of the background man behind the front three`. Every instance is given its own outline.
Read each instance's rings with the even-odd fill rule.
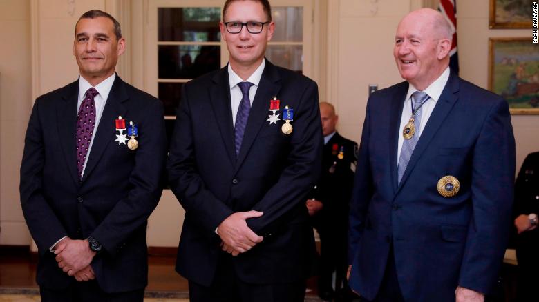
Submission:
[[[357,143],[341,137],[339,132],[323,147],[322,172],[315,188],[309,194],[323,203],[320,212],[314,215],[314,227],[319,232],[327,231],[330,236],[339,236],[346,245],[348,232],[348,210],[355,165]],[[343,149],[343,159],[339,159],[339,152]],[[332,168],[333,167],[333,168]],[[336,247],[337,248],[337,247]]]

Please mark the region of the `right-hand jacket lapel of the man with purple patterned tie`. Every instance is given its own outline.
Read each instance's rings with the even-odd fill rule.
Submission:
[[[124,87],[124,81],[116,75],[111,92],[108,94],[105,108],[101,114],[100,124],[97,127],[97,132],[93,138],[92,147],[90,150],[88,162],[86,162],[86,168],[84,168],[84,175],[82,175],[82,182],[88,179],[97,163],[103,155],[106,146],[115,139],[115,125],[114,120],[119,115],[126,117],[126,108],[122,104],[129,99],[129,96]],[[129,117],[128,117],[129,118]],[[136,121],[133,121],[137,123]]]

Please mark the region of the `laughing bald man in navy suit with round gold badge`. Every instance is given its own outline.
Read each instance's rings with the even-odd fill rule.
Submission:
[[[406,81],[370,97],[350,205],[350,287],[368,301],[483,301],[498,281],[515,142],[502,97],[449,68],[451,28],[401,20]]]

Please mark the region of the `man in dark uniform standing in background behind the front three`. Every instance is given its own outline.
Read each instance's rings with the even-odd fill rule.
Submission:
[[[306,202],[320,236],[318,294],[325,300],[348,301],[351,292],[346,281],[346,239],[357,143],[337,132],[339,116],[332,104],[320,103],[320,118],[324,136],[322,174]]]

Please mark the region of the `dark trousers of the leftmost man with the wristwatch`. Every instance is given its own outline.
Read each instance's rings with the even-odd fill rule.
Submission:
[[[39,288],[41,302],[142,302],[144,288],[131,292],[106,293],[97,285],[97,281],[72,283],[64,290]]]

